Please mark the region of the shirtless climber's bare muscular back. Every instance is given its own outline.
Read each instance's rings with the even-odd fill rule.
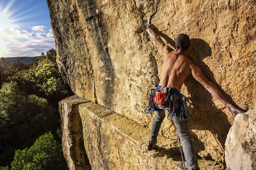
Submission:
[[[166,46],[159,85],[180,90],[186,77],[191,74],[191,60],[184,52],[175,52]]]

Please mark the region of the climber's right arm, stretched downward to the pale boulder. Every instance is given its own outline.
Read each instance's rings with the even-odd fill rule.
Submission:
[[[212,94],[212,96],[216,97],[221,103],[225,104],[228,112],[230,115],[233,115],[234,113],[243,113],[243,111],[237,109],[234,107],[228,99],[223,96],[223,94],[220,92],[220,90],[214,85],[211,81],[209,81],[204,74],[200,71],[199,67],[196,66],[195,64],[190,64],[189,65],[192,75],[195,78],[196,81],[204,85],[205,89],[208,90]]]

